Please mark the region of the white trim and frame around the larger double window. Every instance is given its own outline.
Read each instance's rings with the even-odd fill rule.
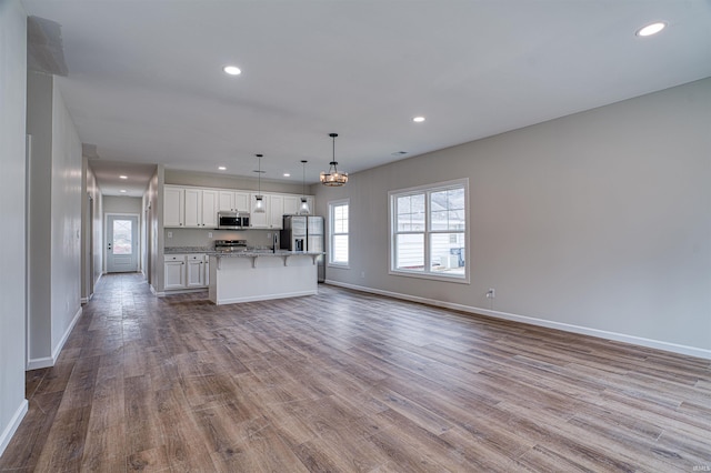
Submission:
[[[395,195],[403,195],[403,194],[409,194],[409,193],[420,193],[422,191],[424,192],[429,192],[429,191],[437,191],[437,190],[442,190],[442,189],[448,189],[448,188],[452,188],[452,187],[463,187],[464,188],[464,214],[467,215],[467,222],[465,222],[465,227],[464,227],[464,240],[467,241],[467,258],[464,259],[464,275],[441,275],[441,274],[434,274],[431,272],[423,272],[423,271],[407,271],[407,270],[398,270],[395,269],[395,261],[394,261],[394,234],[395,234],[395,227],[397,227],[397,222],[395,222],[395,215],[394,215],[394,197]],[[425,199],[425,202],[428,201],[428,199]],[[429,212],[429,203],[425,203],[425,212]],[[458,284],[469,284],[470,283],[470,276],[471,276],[471,266],[470,266],[470,261],[471,261],[471,251],[470,251],[470,245],[469,242],[471,241],[469,239],[469,228],[471,227],[470,223],[470,204],[469,204],[469,178],[463,178],[463,179],[454,179],[452,181],[444,181],[444,182],[437,182],[433,184],[425,184],[425,185],[418,185],[418,187],[413,187],[413,188],[405,188],[405,189],[397,189],[393,191],[389,191],[388,192],[388,219],[390,222],[390,228],[388,231],[388,274],[391,275],[398,275],[398,276],[405,276],[405,278],[418,278],[418,279],[428,279],[428,280],[434,280],[434,281],[444,281],[444,282],[453,282],[453,283],[458,283]],[[429,222],[429,217],[428,220]],[[419,233],[419,232],[418,232]],[[425,224],[425,230],[424,230],[424,235],[425,235],[425,240],[427,240],[427,234],[430,233],[429,230],[429,225]],[[424,251],[425,253],[429,253],[429,245],[427,244],[425,241],[425,246],[424,246]],[[425,260],[427,261],[427,260]]]

